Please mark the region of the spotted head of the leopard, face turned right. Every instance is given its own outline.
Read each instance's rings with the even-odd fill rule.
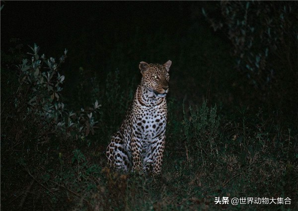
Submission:
[[[157,97],[165,97],[169,91],[169,70],[172,61],[163,65],[140,62],[139,68],[143,75],[142,85]]]

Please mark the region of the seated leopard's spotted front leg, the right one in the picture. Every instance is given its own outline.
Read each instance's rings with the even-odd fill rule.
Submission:
[[[152,148],[153,154],[153,174],[159,175],[162,166],[163,151],[165,146],[165,136],[157,139],[155,146]]]

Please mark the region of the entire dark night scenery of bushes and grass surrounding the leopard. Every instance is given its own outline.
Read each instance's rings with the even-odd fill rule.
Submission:
[[[1,210],[298,210],[297,1],[2,5]],[[161,175],[109,169],[140,62],[168,60]]]

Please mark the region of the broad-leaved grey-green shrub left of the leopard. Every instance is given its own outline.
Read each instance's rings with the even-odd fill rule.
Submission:
[[[27,127],[23,128],[23,133],[30,134],[30,139],[38,142],[46,141],[51,136],[83,140],[90,132],[94,133],[97,122],[93,114],[101,107],[97,101],[88,111],[81,109],[77,113],[66,109],[62,102],[65,76],[59,73],[59,69],[67,58],[67,50],[57,63],[53,57],[46,59],[44,54],[40,57],[36,44],[30,48],[33,53],[27,54],[32,56],[31,59],[23,59],[17,66],[19,85],[13,91],[13,97],[2,104],[6,113],[1,116],[7,117],[4,125],[15,125],[14,121],[25,123]],[[22,131],[20,128],[17,130],[18,133]]]

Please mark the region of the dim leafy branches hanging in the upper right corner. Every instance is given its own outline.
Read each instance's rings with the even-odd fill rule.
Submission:
[[[282,65],[295,73],[297,2],[222,1],[219,7],[223,18],[208,17],[208,20],[215,31],[227,29],[237,68],[244,71],[256,87],[264,89],[276,79],[276,72],[282,71],[269,61],[271,55],[284,60]],[[207,16],[204,8],[203,13]],[[288,55],[290,52],[294,54]]]

